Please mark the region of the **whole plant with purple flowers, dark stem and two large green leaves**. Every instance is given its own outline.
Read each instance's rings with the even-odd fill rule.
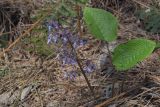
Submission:
[[[111,13],[102,9],[85,7],[83,19],[95,38],[106,41],[107,44],[116,40],[118,21]],[[83,40],[80,38],[81,36],[74,34],[69,28],[65,28],[55,20],[48,22],[48,32],[48,43],[54,43],[59,47],[56,51],[59,53],[58,59],[62,66],[72,66],[72,69],[69,72],[66,71],[64,76],[70,79],[75,78],[78,66],[89,88],[94,93],[85,73],[94,71],[96,67],[91,60],[85,60],[85,66],[81,65],[76,53],[76,49],[84,46],[87,40]],[[129,40],[114,49],[113,54],[110,54],[111,62],[117,71],[128,70],[147,58],[155,46],[156,43],[154,41],[144,38]]]

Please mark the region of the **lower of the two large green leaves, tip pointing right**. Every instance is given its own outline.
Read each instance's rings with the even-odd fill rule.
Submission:
[[[127,70],[147,58],[156,43],[147,39],[133,39],[117,46],[113,53],[113,65],[119,71]]]

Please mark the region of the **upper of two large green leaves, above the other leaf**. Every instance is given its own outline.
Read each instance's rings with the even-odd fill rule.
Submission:
[[[96,8],[84,9],[84,20],[97,39],[113,41],[117,37],[118,21],[111,13]]]

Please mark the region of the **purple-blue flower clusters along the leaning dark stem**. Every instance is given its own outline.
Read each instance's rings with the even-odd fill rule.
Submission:
[[[74,35],[71,33],[69,28],[64,28],[61,24],[57,21],[51,20],[47,23],[48,27],[48,41],[47,44],[54,44],[61,47],[58,48],[59,52],[59,61],[61,62],[62,66],[64,65],[71,65],[73,68],[77,66],[77,59],[76,54],[71,47],[69,47],[69,43],[75,49],[82,47],[87,44],[86,39],[82,39],[79,36]],[[85,66],[83,70],[86,73],[91,73],[95,70],[95,65],[92,61],[85,61]],[[78,69],[77,69],[78,70]],[[70,71],[65,72],[64,77],[74,79],[77,76],[75,69],[71,69]]]

